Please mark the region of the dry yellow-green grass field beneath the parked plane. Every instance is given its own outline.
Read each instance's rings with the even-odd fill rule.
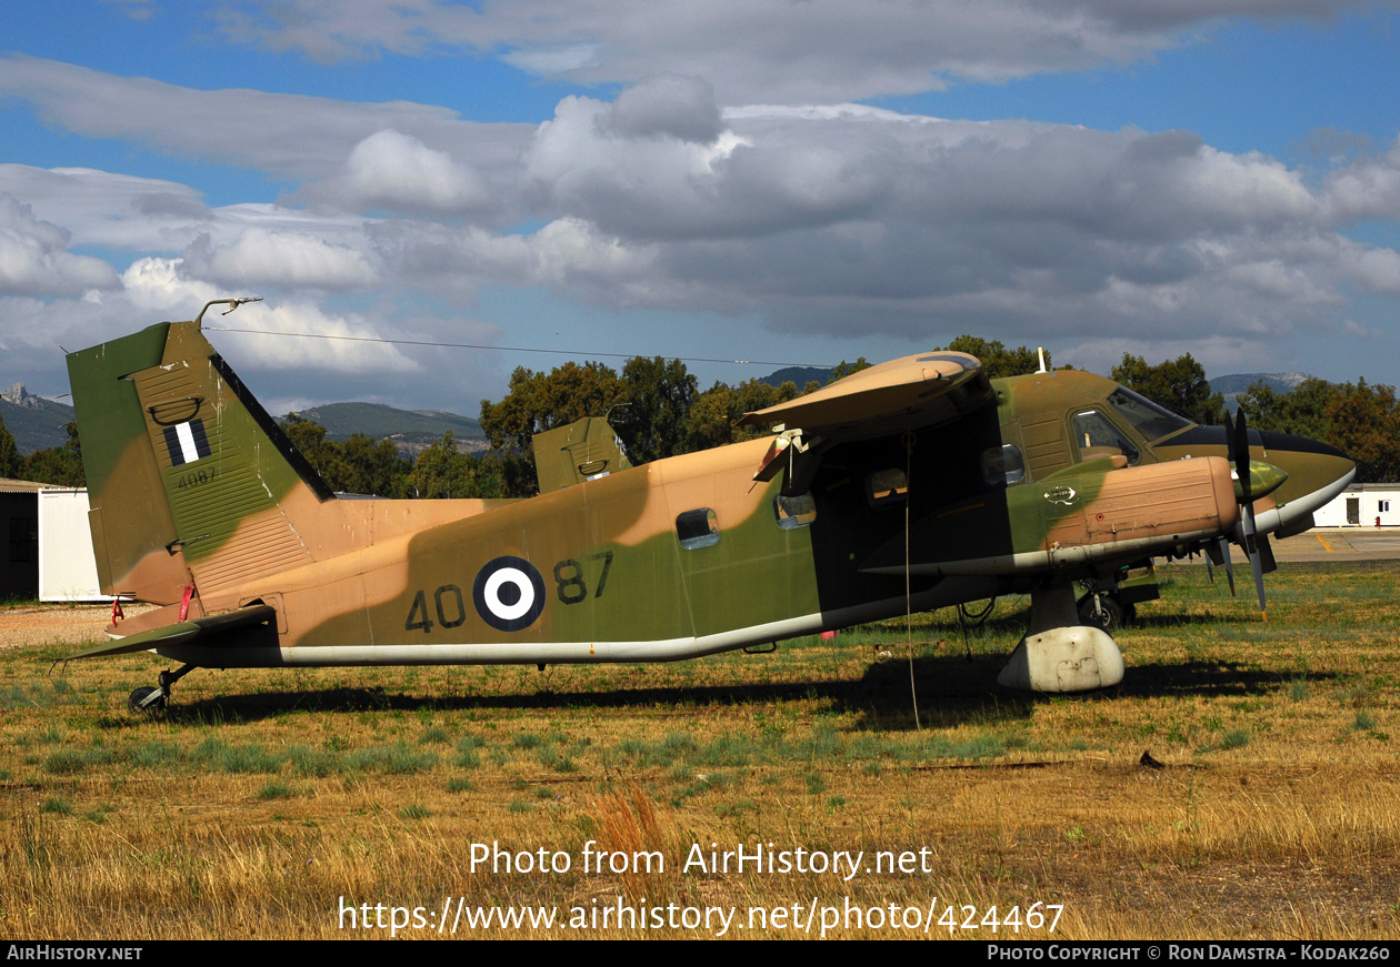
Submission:
[[[735,907],[741,938],[750,907],[804,935],[813,900],[865,911],[827,936],[910,935],[893,904],[930,936],[1049,938],[1036,903],[1063,908],[1054,938],[1400,935],[1400,563],[1285,564],[1268,621],[1201,567],[1162,574],[1117,637],[1124,684],[1088,697],[995,686],[1026,600],[969,647],[952,612],[917,619],[921,728],[902,621],[665,666],[197,670],[148,719],[126,696],[162,659],[49,677],[70,642],[0,651],[0,932],[335,938],[343,905],[385,904],[438,936],[456,897],[599,924],[458,936],[720,932],[603,928],[622,897]],[[570,869],[473,869],[493,842]],[[629,862],[585,872],[589,842]],[[683,869],[694,844],[864,859]],[[630,859],[651,851],[664,869]]]

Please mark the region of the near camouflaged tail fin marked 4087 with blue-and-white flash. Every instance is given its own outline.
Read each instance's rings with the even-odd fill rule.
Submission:
[[[335,495],[193,322],[69,355],[102,589],[179,600],[311,560]]]

